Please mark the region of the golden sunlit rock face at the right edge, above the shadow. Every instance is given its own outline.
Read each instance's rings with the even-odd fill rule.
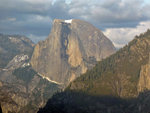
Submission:
[[[150,55],[148,64],[141,67],[138,92],[143,92],[144,90],[150,90]]]

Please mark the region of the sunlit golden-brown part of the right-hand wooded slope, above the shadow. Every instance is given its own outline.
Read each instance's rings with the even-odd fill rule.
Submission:
[[[128,45],[100,61],[67,89],[90,95],[137,97],[150,90],[150,30],[136,36]]]

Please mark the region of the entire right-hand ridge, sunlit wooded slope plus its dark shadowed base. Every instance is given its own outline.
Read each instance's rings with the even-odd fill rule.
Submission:
[[[38,113],[149,113],[149,53],[147,30],[53,95]]]

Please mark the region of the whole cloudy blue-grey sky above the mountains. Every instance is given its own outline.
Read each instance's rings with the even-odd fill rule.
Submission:
[[[38,42],[55,18],[85,20],[121,48],[150,28],[150,0],[0,0],[0,33]]]

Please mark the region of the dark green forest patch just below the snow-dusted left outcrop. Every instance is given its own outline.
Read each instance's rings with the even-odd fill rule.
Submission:
[[[13,72],[13,75],[23,80],[26,84],[32,80],[35,74],[37,73],[30,66],[15,69]]]

